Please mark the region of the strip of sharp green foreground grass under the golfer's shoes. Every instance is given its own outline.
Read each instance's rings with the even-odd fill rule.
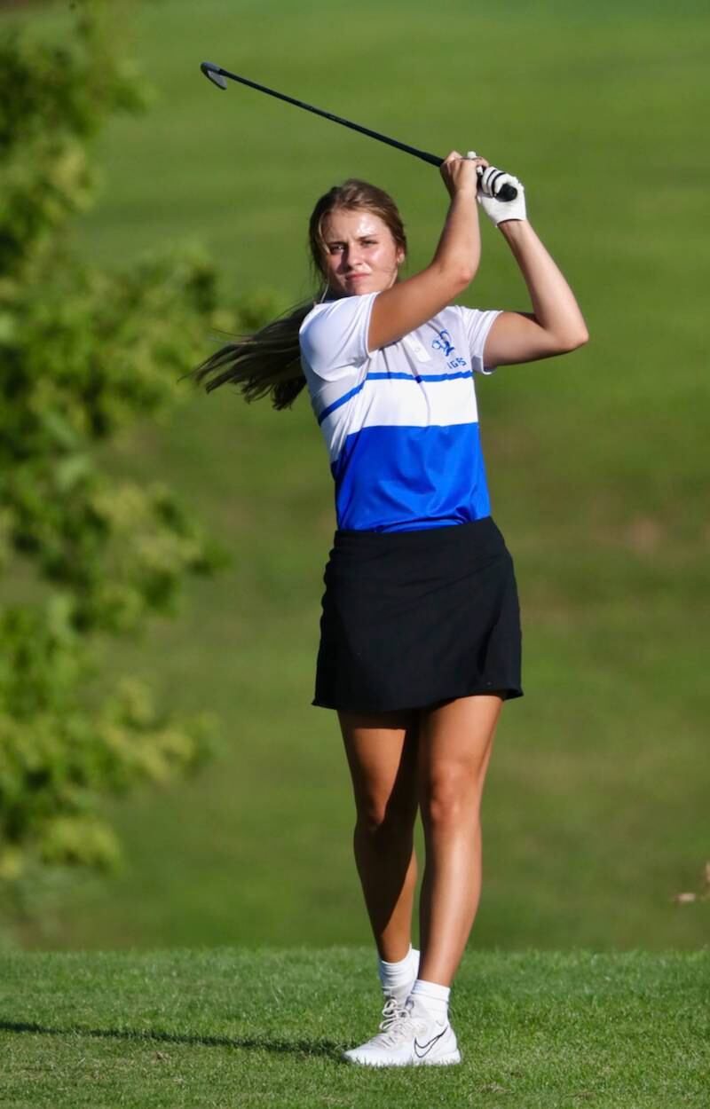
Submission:
[[[361,949],[0,958],[0,1105],[13,1109],[704,1109],[710,952],[469,955],[460,1067],[339,1062],[373,1035]]]

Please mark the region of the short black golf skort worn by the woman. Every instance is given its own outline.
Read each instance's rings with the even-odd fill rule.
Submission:
[[[387,712],[523,695],[513,559],[491,517],[338,530],[324,581],[312,704]]]

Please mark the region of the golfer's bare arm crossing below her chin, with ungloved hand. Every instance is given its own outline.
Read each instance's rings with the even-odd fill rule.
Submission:
[[[487,164],[485,159],[465,159],[457,151],[442,163],[450,204],[438,246],[425,269],[375,297],[367,335],[371,350],[420,327],[474,279],[480,261],[477,166]]]

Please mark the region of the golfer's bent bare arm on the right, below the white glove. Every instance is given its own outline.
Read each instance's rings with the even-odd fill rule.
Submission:
[[[525,194],[523,192],[523,201]],[[589,338],[575,294],[527,218],[496,220],[496,202],[481,201],[513,251],[530,294],[532,312],[504,312],[488,333],[487,366],[550,358],[582,346]],[[525,202],[523,203],[525,216]]]

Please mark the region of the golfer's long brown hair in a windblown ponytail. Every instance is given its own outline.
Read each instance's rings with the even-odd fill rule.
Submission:
[[[291,407],[306,384],[301,366],[298,329],[314,304],[323,301],[328,292],[323,238],[325,222],[337,210],[361,208],[379,216],[397,246],[406,252],[404,224],[388,193],[356,177],[334,185],[316,202],[308,223],[311,261],[321,285],[316,299],[296,305],[253,335],[235,336],[235,342],[221,347],[186,375],[195,385],[204,383],[205,391],[211,393],[231,381],[247,401],[271,395],[274,408]]]

